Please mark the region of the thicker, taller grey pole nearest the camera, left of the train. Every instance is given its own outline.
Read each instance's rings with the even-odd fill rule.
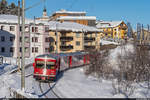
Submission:
[[[24,33],[25,33],[25,0],[22,0],[22,61],[21,61],[21,90],[25,90],[25,47],[24,47]]]

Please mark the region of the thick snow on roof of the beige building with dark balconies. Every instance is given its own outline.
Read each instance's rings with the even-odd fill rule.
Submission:
[[[58,31],[74,31],[74,32],[100,32],[99,29],[95,27],[90,27],[74,22],[56,22],[56,21],[50,21],[49,22],[49,28],[50,30],[58,30]]]

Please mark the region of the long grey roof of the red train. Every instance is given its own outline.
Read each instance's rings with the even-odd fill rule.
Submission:
[[[67,57],[67,56],[74,56],[74,55],[83,55],[86,52],[73,52],[73,53],[51,53],[51,54],[43,54],[39,55],[36,58],[51,58],[51,59],[58,59],[60,57]]]

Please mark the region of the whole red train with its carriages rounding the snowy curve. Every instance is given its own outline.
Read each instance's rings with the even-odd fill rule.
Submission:
[[[85,52],[39,55],[33,63],[33,76],[36,80],[54,81],[60,71],[85,64],[89,64],[89,56]]]

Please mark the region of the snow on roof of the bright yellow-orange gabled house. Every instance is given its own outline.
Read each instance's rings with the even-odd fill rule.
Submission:
[[[97,22],[97,28],[108,28],[108,27],[116,27],[121,24],[123,21],[99,21]]]

